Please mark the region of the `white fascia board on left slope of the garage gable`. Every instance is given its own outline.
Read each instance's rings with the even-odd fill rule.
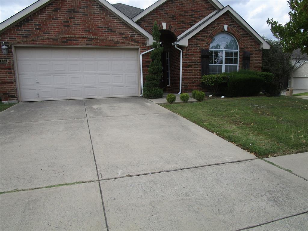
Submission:
[[[1,32],[5,31],[6,29],[10,28],[10,26],[15,25],[22,19],[33,14],[35,11],[48,5],[52,1],[53,0],[39,0],[37,2],[34,2],[32,5],[28,6],[27,8],[23,9],[22,11],[19,11],[17,14],[14,14],[12,17],[0,23]]]

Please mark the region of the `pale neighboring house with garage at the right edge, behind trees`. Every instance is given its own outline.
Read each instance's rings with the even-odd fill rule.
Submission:
[[[294,65],[289,78],[289,87],[297,90],[308,90],[308,56],[300,50],[293,51],[291,63]]]

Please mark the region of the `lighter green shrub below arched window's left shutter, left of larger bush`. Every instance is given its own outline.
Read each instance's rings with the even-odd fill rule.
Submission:
[[[203,75],[201,82],[211,87],[212,95],[216,95],[223,83],[227,83],[230,73],[220,73],[215,75]]]

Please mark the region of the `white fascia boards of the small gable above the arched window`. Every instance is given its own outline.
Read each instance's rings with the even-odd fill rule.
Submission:
[[[255,31],[249,24],[241,18],[240,15],[238,15],[230,6],[226,6],[224,9],[219,11],[213,18],[210,18],[207,22],[205,22],[203,25],[198,27],[196,30],[194,30],[192,33],[188,34],[186,37],[180,39],[179,45],[180,46],[188,46],[188,39],[192,38],[195,34],[199,33],[202,29],[204,29],[206,26],[208,26],[210,23],[214,22],[217,18],[219,18],[222,14],[229,12],[231,16],[241,25],[243,26],[246,31],[253,36],[259,43],[260,43],[260,49],[270,49],[270,45]]]

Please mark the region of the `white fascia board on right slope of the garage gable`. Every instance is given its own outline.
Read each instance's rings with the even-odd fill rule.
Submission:
[[[99,2],[107,10],[111,11],[115,16],[120,18],[123,22],[125,22],[126,24],[137,30],[141,35],[143,35],[147,39],[147,45],[151,45],[153,43],[152,34],[148,33],[136,22],[134,22],[132,19],[128,18],[125,14],[123,14],[120,10],[112,6],[109,2],[107,2],[106,0],[96,0],[96,2]]]

